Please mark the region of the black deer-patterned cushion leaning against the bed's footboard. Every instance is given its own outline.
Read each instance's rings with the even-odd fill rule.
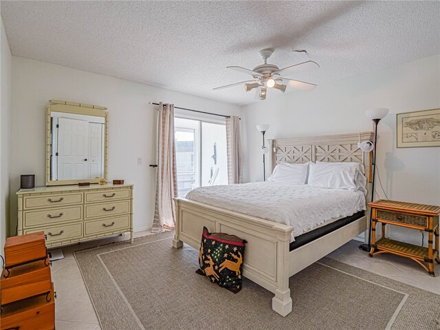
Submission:
[[[210,233],[203,227],[201,235],[198,274],[206,275],[231,292],[241,290],[241,272],[245,252],[244,239],[223,232]]]

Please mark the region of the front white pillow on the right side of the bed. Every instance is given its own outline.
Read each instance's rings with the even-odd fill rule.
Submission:
[[[350,164],[317,162],[310,164],[309,186],[328,189],[356,190],[355,177],[359,170]]]

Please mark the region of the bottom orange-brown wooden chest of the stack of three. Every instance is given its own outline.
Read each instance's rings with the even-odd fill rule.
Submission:
[[[49,301],[47,301],[49,300]],[[50,294],[6,305],[1,313],[1,330],[54,330],[54,287]]]

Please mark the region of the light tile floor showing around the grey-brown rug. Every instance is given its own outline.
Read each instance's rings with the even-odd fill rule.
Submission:
[[[150,232],[137,232],[142,237]],[[63,248],[64,259],[52,263],[52,278],[57,295],[55,318],[56,330],[100,330],[98,318],[87,294],[83,277],[74,259],[73,252],[111,241],[123,241],[128,236],[115,236],[110,239],[89,241],[80,245]],[[358,249],[359,241],[349,241],[329,257],[355,267],[368,270],[396,281],[414,285],[440,294],[440,265],[435,264],[437,277],[429,276],[417,263],[392,254],[380,254],[369,258],[366,252]]]

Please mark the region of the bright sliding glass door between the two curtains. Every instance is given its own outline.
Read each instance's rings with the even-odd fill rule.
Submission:
[[[175,118],[175,140],[179,197],[199,186],[228,184],[225,124]]]

